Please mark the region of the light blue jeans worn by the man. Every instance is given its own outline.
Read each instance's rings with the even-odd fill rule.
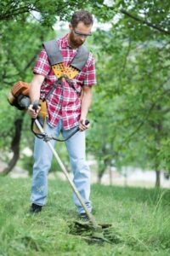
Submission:
[[[65,138],[76,128],[71,130],[64,130],[62,119],[59,120],[58,125],[52,128],[46,125],[46,132],[48,135],[59,137],[59,133]],[[54,146],[55,141],[51,140]],[[85,159],[85,132],[78,131],[73,137],[65,142],[71,161],[71,170],[73,172],[73,182],[77,190],[82,195],[82,199],[91,212],[90,195],[90,171]],[[39,206],[45,204],[45,199],[48,195],[48,171],[51,167],[53,153],[42,139],[36,137],[34,144],[34,166],[31,186],[31,202]],[[69,184],[68,184],[69,185]],[[77,206],[78,212],[85,212],[81,203],[77,199],[77,195],[73,193],[73,201]]]

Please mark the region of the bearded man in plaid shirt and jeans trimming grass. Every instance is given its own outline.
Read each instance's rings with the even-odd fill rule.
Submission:
[[[70,32],[56,41],[66,66],[71,63],[73,57],[77,55],[79,47],[91,35],[92,26],[93,17],[88,11],[80,10],[72,15],[71,24],[69,25]],[[35,75],[31,82],[31,105],[29,111],[31,118],[36,118],[40,108],[38,108],[36,113],[32,108],[33,102],[46,96],[57,80],[44,48],[39,55],[33,72]],[[70,156],[71,170],[74,175],[73,182],[82,195],[88,210],[91,212],[92,206],[89,201],[90,173],[85,160],[84,132],[88,128],[88,125],[85,125],[85,120],[87,119],[88,108],[92,102],[92,86],[96,84],[94,57],[91,53],[89,53],[88,61],[82,68],[82,71],[71,81],[74,84],[73,87],[67,81],[63,82],[63,86],[58,84],[46,101],[48,108],[46,132],[54,137],[59,137],[61,132],[65,138],[79,125],[81,132],[77,132],[77,134],[66,141],[66,147]],[[77,91],[81,92],[81,90],[82,96],[80,97]],[[54,145],[54,141],[51,143]],[[52,156],[47,143],[36,137],[31,187],[31,212],[40,212],[45,204],[45,199],[48,195],[48,170],[51,166]],[[79,215],[82,218],[87,218],[82,205],[74,194],[73,201],[77,206]]]

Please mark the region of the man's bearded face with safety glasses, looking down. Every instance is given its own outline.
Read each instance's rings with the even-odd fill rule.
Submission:
[[[82,45],[88,36],[91,35],[91,29],[92,25],[86,26],[81,21],[78,23],[77,27],[71,26],[70,27],[70,33],[69,33],[69,40],[72,47],[77,48],[80,45]]]

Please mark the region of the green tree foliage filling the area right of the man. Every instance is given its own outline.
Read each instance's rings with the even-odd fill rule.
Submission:
[[[98,86],[89,150],[104,169],[109,158],[118,168],[169,170],[170,45],[160,30],[169,29],[169,3],[117,1],[111,9],[120,12],[116,23],[94,35]]]

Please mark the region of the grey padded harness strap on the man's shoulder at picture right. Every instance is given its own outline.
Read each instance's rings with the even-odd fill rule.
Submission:
[[[75,55],[74,59],[71,61],[71,66],[76,67],[79,71],[81,71],[88,61],[88,56],[89,50],[84,45],[81,45],[78,48],[77,55]]]

